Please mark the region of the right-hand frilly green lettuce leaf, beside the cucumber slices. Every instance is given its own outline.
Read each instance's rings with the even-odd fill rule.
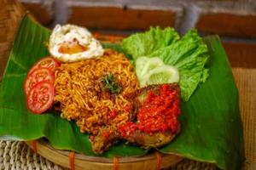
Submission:
[[[180,41],[160,48],[148,56],[158,56],[166,65],[177,67],[184,101],[188,101],[198,84],[205,82],[208,77],[208,70],[205,68],[209,58],[207,45],[195,30],[189,31]]]

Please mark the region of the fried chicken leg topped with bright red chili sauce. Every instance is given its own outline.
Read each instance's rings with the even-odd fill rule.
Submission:
[[[91,136],[91,146],[101,154],[119,139],[144,148],[160,147],[174,139],[180,130],[180,88],[177,83],[151,85],[134,94],[135,119],[116,127],[108,125]]]

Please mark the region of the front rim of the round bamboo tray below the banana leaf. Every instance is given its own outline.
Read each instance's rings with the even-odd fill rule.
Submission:
[[[35,146],[32,142],[27,142],[27,144],[35,150]],[[74,167],[76,170],[86,170],[86,169],[113,169],[114,159],[108,159],[99,156],[84,156],[82,154],[76,153],[74,155],[74,163],[70,164],[70,151],[68,150],[55,150],[50,144],[44,140],[39,139],[36,143],[36,151],[39,155],[44,156],[50,161],[55,162],[61,167]],[[183,157],[175,155],[161,155],[160,162],[158,163],[156,154],[148,154],[146,156],[129,156],[129,157],[119,157],[118,169],[147,169],[155,170],[160,168],[172,167],[177,164],[177,162],[182,161]]]

